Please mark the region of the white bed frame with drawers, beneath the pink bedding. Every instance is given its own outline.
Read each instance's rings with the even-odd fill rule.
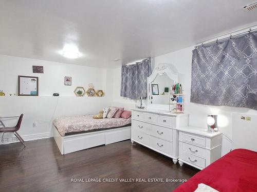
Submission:
[[[94,146],[107,145],[131,139],[131,125],[66,136],[62,136],[54,125],[52,125],[52,129],[53,138],[62,155],[85,150],[86,148]]]

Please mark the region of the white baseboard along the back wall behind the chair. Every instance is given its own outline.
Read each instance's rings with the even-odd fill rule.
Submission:
[[[31,140],[36,140],[36,139],[44,139],[44,138],[49,138],[49,137],[53,137],[52,133],[40,133],[40,134],[33,134],[33,135],[25,135],[25,136],[21,136],[24,141],[31,141]],[[9,144],[9,143],[16,143],[16,142],[20,142],[15,136],[14,137],[9,137],[9,138],[5,138],[4,136],[4,142],[1,142],[0,139],[0,145],[2,144]]]

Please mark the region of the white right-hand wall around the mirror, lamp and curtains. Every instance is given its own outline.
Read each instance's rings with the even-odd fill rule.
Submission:
[[[191,90],[191,63],[192,63],[192,50],[194,47],[178,50],[176,52],[160,55],[153,58],[153,69],[158,63],[168,63],[177,73],[179,73],[180,83],[182,89],[185,90],[185,111],[189,113],[189,125],[207,129],[207,115],[218,114],[218,127],[230,139],[232,136],[232,113],[242,113],[257,115],[257,111],[247,108],[233,108],[229,106],[208,106],[195,104],[190,102]],[[115,69],[113,92],[113,102],[119,102],[119,105],[135,105],[134,100],[123,99],[119,96],[120,86],[120,73],[121,69]],[[246,130],[244,130],[246,131]],[[223,136],[222,142],[222,155],[228,153],[231,149],[231,142]]]

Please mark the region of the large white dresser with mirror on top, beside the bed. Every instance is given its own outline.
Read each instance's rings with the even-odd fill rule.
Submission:
[[[137,142],[151,150],[178,159],[177,127],[188,125],[187,114],[132,109],[131,142]]]

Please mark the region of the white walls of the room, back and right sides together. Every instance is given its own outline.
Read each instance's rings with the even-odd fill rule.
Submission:
[[[190,103],[191,60],[193,47],[182,49],[153,58],[153,68],[158,63],[169,63],[179,73],[180,82],[185,90],[185,111],[189,113],[189,125],[206,129],[207,114],[218,114],[219,130],[231,138],[232,113],[257,115],[254,110],[232,108],[228,106],[207,106]],[[32,65],[44,66],[44,74],[33,74]],[[116,69],[90,68],[65,63],[50,62],[21,57],[0,55],[0,90],[6,94],[17,93],[17,76],[39,76],[39,97],[0,97],[0,116],[20,115],[24,113],[24,121],[20,134],[33,134],[42,137],[51,133],[51,121],[59,116],[97,113],[103,106],[124,106],[135,108],[137,100],[120,97],[121,67]],[[72,86],[64,86],[64,76],[72,77]],[[105,91],[105,97],[75,97],[76,86],[88,88],[94,83],[96,89]],[[60,93],[59,100],[52,93]],[[146,104],[146,102],[145,102]],[[16,120],[5,121],[14,125]],[[33,127],[33,122],[37,126]],[[246,130],[244,130],[246,131]],[[1,135],[0,135],[1,136]],[[10,135],[5,138],[12,137]],[[39,136],[41,137],[41,136]],[[224,136],[222,154],[231,149],[230,141]]]

